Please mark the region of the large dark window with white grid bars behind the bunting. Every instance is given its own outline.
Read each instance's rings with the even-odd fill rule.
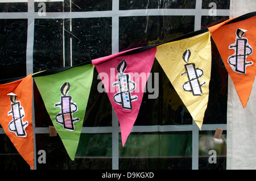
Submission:
[[[229,1],[211,2],[217,8],[214,15],[209,14],[212,6],[204,0],[1,1],[1,79],[158,44],[229,18]],[[158,98],[148,99],[151,92],[145,92],[123,147],[118,119],[106,93],[97,91],[100,80],[94,71],[75,161],[69,159],[59,136],[49,136],[52,122],[34,83],[36,161],[37,151],[46,151],[46,163],[36,162],[35,168],[226,169],[228,74],[214,43],[210,98],[201,131],[156,60],[151,72],[158,73],[154,85]],[[221,140],[213,138],[216,128],[224,129]],[[30,169],[2,128],[0,144],[2,169]],[[216,151],[216,163],[209,163],[210,150]]]

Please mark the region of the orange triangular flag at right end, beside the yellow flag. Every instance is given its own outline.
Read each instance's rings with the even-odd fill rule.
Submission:
[[[243,108],[256,74],[255,15],[251,12],[209,28]]]

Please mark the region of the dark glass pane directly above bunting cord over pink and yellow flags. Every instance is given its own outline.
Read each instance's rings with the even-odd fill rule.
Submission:
[[[119,18],[119,51],[158,44],[194,31],[194,16]]]

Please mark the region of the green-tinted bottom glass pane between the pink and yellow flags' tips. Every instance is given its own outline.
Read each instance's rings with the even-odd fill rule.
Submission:
[[[191,169],[191,132],[130,133],[119,136],[119,169]]]

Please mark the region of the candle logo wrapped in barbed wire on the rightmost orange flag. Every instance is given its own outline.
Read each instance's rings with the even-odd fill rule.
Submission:
[[[243,37],[246,31],[238,28],[236,42],[229,45],[229,49],[234,49],[235,53],[229,56],[228,63],[234,72],[240,74],[246,74],[246,67],[253,65],[253,62],[246,61],[247,56],[253,53],[253,48],[248,44],[248,39]]]

